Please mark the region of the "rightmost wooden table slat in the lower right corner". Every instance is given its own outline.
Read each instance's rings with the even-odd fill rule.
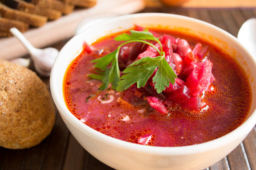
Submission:
[[[251,169],[256,169],[256,128],[243,140],[243,144]]]

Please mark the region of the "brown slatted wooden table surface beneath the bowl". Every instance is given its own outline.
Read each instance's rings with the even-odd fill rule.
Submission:
[[[223,28],[234,36],[238,34],[242,23],[249,18],[256,17],[256,8],[171,8],[159,6],[146,7],[141,12],[177,13],[198,18]],[[62,40],[53,46],[60,49],[65,42],[67,40]],[[48,79],[42,79],[48,84]],[[40,145],[18,150],[0,147],[0,169],[112,169],[86,152],[65,127],[58,111],[56,114],[53,131]],[[256,169],[255,160],[256,128],[233,152],[208,169],[253,170]]]

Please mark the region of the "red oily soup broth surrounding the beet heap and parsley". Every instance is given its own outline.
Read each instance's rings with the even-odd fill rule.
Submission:
[[[207,40],[171,30],[152,30],[186,39],[191,47],[198,42],[208,47],[207,60],[213,63],[215,80],[210,86],[212,91],[201,96],[206,106],[193,111],[171,104],[166,106],[168,114],[163,115],[149,105],[144,91],[136,86],[125,91],[100,91],[102,82],[88,77],[95,72],[91,61],[117,48],[121,42],[114,40],[114,34],[93,43],[92,52],[85,47],[68,67],[63,93],[70,112],[110,137],[161,147],[196,145],[238,128],[247,116],[252,98],[249,81],[239,64]]]

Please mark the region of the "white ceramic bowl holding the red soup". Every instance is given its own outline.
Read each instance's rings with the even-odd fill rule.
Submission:
[[[252,106],[245,123],[228,135],[186,147],[150,147],[103,135],[80,122],[68,111],[63,98],[63,77],[70,62],[82,50],[82,43],[134,26],[161,26],[210,40],[232,55],[245,69],[252,86]],[[193,18],[164,13],[139,13],[113,18],[72,38],[60,51],[50,75],[50,90],[58,111],[76,140],[94,157],[114,169],[205,169],[229,154],[256,123],[256,64],[238,40],[224,30]]]

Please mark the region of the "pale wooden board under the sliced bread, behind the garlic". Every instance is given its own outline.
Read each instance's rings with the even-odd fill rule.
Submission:
[[[46,23],[41,28],[28,30],[24,35],[35,47],[46,47],[71,38],[78,23],[85,18],[107,12],[135,13],[143,8],[144,0],[98,0],[97,5],[92,8],[76,10],[56,21]],[[11,60],[27,54],[26,48],[16,38],[0,38],[0,59]]]

